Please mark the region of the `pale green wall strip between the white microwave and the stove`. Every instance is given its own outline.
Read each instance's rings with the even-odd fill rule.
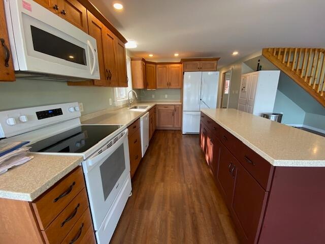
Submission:
[[[113,101],[112,87],[68,86],[66,82],[24,79],[0,82],[0,110],[79,102],[83,103],[82,114],[88,114],[112,108],[110,98]]]

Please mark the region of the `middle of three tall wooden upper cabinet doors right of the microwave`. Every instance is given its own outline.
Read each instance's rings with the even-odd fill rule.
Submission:
[[[110,86],[118,86],[116,66],[117,63],[114,44],[115,35],[104,26],[103,32],[103,43],[104,43],[104,63],[105,63],[105,79],[108,80]]]

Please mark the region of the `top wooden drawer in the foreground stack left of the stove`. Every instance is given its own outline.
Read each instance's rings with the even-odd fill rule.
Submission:
[[[41,230],[45,230],[83,188],[85,182],[79,166],[32,202]]]

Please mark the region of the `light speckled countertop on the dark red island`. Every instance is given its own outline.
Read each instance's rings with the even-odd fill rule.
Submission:
[[[202,109],[273,166],[325,167],[325,137],[236,109]]]

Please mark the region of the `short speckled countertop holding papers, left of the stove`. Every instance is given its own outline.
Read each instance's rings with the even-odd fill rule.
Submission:
[[[0,175],[0,197],[33,201],[83,160],[76,156],[31,154],[34,159]]]

